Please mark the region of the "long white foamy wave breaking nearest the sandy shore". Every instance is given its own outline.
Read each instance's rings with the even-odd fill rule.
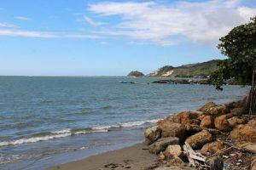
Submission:
[[[63,129],[53,132],[46,133],[37,133],[33,134],[31,138],[17,139],[14,141],[2,141],[0,142],[0,147],[8,145],[18,145],[18,144],[29,144],[36,143],[41,141],[47,141],[50,139],[61,139],[72,135],[86,134],[86,133],[108,133],[109,130],[117,128],[131,128],[139,127],[147,123],[155,123],[160,119],[153,119],[147,121],[136,121],[136,122],[122,122],[112,126],[96,126],[96,127],[85,127],[85,128],[76,128],[76,129]]]

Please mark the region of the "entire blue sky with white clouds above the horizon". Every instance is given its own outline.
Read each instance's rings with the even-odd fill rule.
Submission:
[[[0,75],[123,76],[224,59],[255,0],[0,0]]]

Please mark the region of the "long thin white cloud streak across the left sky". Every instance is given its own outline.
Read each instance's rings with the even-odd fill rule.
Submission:
[[[42,38],[83,38],[83,39],[98,39],[100,37],[84,34],[68,34],[68,33],[52,33],[42,31],[22,31],[22,30],[1,30],[0,36],[7,37],[42,37]]]

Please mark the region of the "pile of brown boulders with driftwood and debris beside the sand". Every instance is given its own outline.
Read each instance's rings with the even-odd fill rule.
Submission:
[[[198,111],[167,116],[145,130],[145,143],[159,155],[157,169],[255,169],[256,117],[247,115],[246,98]]]

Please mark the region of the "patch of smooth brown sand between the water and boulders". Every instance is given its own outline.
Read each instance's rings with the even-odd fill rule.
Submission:
[[[90,156],[80,161],[73,161],[52,170],[140,170],[154,166],[157,156],[149,154],[148,146],[136,144],[121,150],[108,151],[96,156]]]

